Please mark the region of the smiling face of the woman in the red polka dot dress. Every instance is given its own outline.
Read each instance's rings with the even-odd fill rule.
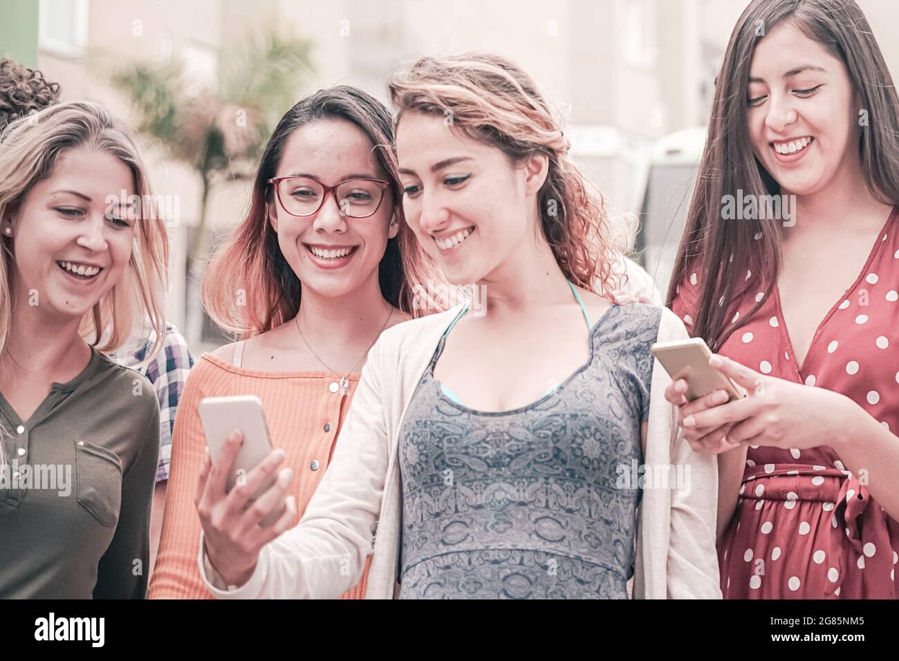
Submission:
[[[752,151],[782,192],[807,195],[859,168],[858,115],[846,67],[790,22],[752,54]]]

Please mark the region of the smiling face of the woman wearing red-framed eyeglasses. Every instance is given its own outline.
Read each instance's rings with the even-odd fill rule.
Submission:
[[[328,186],[348,179],[389,181],[371,139],[343,120],[313,121],[294,130],[284,145],[275,176],[305,177]],[[310,196],[318,194],[316,187],[302,184],[282,183],[281,200],[290,204],[289,196],[293,196],[308,203]],[[344,203],[352,205],[369,193],[342,188],[340,194]],[[384,189],[378,210],[367,218],[342,214],[332,194],[325,195],[321,208],[311,216],[290,215],[277,196],[269,203],[268,213],[281,253],[303,283],[303,290],[329,297],[349,293],[369,278],[377,281],[387,241],[396,237],[399,229],[389,187]]]

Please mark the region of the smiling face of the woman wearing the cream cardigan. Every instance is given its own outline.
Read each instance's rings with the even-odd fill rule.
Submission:
[[[484,280],[533,234],[545,170],[529,175],[441,115],[421,112],[403,114],[396,151],[406,222],[449,282]]]

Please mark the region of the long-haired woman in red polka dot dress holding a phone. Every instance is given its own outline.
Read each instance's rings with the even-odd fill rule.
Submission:
[[[755,0],[734,29],[669,300],[747,397],[667,393],[718,454],[725,598],[896,597],[896,108],[851,0]]]

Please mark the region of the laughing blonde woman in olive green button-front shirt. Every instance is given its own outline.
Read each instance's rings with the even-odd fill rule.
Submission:
[[[137,201],[120,205],[109,200]],[[0,138],[0,598],[143,598],[159,407],[111,352],[158,352],[165,224],[124,126],[62,103]],[[131,197],[138,196],[138,197]]]

